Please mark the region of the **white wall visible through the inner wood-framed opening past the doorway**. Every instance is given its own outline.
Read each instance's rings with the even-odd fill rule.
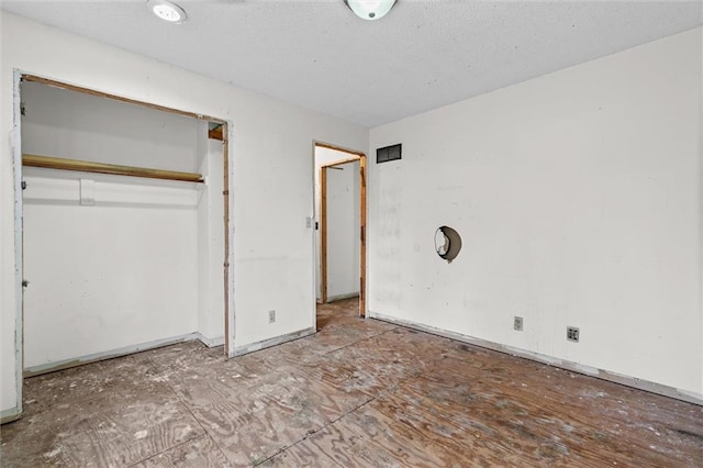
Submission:
[[[359,293],[359,161],[327,168],[327,301]]]

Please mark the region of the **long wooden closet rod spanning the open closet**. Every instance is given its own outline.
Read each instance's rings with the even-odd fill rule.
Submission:
[[[90,163],[87,160],[65,159],[51,156],[23,154],[22,166],[44,167],[47,169],[80,170],[82,172],[112,174],[116,176],[147,177],[150,179],[181,180],[203,182],[202,175],[177,170],[150,169],[147,167],[118,166],[114,164]]]

